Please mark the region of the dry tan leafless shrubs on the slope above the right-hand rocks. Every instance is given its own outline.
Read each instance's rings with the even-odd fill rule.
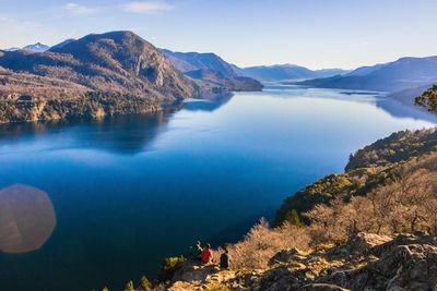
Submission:
[[[428,231],[437,235],[437,153],[414,158],[398,178],[366,196],[317,205],[306,214],[315,242],[344,241],[357,232],[393,234]]]

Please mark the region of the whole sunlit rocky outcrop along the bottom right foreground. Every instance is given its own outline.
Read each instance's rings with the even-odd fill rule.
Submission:
[[[343,245],[284,250],[262,270],[185,265],[169,290],[436,290],[437,241],[359,233]]]

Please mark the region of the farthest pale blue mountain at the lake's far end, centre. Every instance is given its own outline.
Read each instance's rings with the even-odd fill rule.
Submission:
[[[274,82],[333,76],[344,74],[347,71],[341,69],[324,69],[312,71],[305,66],[295,64],[276,64],[268,66],[249,66],[244,69],[236,68],[235,72],[237,72],[237,74],[239,75],[250,76],[261,82]]]

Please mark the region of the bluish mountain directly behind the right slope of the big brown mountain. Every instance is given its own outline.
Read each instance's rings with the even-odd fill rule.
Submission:
[[[258,81],[238,76],[234,66],[215,53],[174,52],[162,49],[173,65],[208,90],[261,90]]]

